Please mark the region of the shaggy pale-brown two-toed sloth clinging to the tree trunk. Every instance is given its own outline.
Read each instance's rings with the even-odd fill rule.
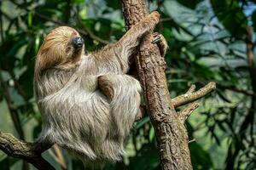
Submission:
[[[91,54],[84,54],[84,40],[73,28],[61,26],[45,37],[34,75],[43,118],[40,140],[83,161],[120,159],[140,105],[140,83],[125,74],[129,58],[159,19],[157,12],[148,14],[119,42]]]

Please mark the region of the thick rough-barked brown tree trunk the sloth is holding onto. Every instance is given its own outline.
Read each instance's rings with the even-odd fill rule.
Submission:
[[[126,29],[148,14],[144,0],[122,0]],[[187,130],[175,111],[166,83],[166,62],[148,34],[135,56],[138,77],[147,99],[147,112],[154,125],[162,169],[192,169]]]

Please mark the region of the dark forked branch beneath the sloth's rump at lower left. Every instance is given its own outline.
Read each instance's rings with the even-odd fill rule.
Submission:
[[[11,133],[3,133],[0,131],[0,150],[3,150],[8,156],[20,158],[30,162],[39,170],[54,170],[48,161],[45,161],[41,153],[48,150],[52,144],[48,143],[28,143],[16,139]]]

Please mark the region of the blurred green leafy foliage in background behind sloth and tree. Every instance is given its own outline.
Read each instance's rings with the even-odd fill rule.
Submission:
[[[194,169],[255,169],[256,72],[248,65],[247,45],[254,49],[255,34],[249,30],[256,29],[256,1],[147,2],[162,16],[155,31],[169,45],[166,77],[171,96],[183,94],[191,84],[218,85],[187,123],[189,139],[195,139],[189,144]],[[45,35],[56,26],[72,26],[84,37],[86,50],[102,48],[125,33],[121,5],[113,0],[2,0],[0,17],[0,129],[32,141],[41,131],[32,77]],[[255,54],[253,61],[255,68]],[[84,169],[81,161],[61,152],[67,169]],[[126,152],[124,161],[103,169],[159,169],[148,117],[133,128]],[[63,168],[54,151],[44,157],[56,169]],[[21,167],[20,160],[0,151],[1,170]]]

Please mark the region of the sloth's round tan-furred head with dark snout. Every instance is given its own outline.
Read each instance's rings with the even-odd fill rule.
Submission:
[[[44,38],[36,60],[35,73],[57,67],[77,65],[84,53],[84,40],[79,32],[68,26],[60,26],[50,31]]]

